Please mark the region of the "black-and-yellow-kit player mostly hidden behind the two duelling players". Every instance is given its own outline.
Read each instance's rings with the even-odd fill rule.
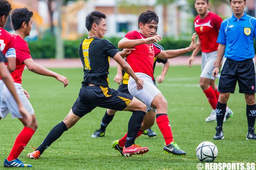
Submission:
[[[157,32],[157,28],[156,28],[156,32]],[[155,34],[153,36],[156,35],[156,32],[155,32]],[[153,43],[153,44],[159,50],[164,50],[162,48],[162,46],[158,45],[157,43]],[[134,49],[124,49],[120,53],[124,53],[123,56],[127,56],[127,55],[129,55],[131,53],[131,50],[134,50]],[[167,73],[167,71],[169,69],[169,66],[170,66],[170,64],[169,64],[167,59],[166,60],[162,60],[160,58],[154,58],[153,70],[155,70],[156,62],[163,63],[163,68],[162,68],[161,75],[159,75],[156,78],[156,80],[155,80],[155,78],[153,80],[155,86],[156,86],[156,83],[155,83],[156,81],[158,83],[162,83],[165,80],[165,75],[166,75],[166,73]],[[117,64],[117,74],[116,74],[116,76],[114,78],[114,81],[117,84],[120,85],[117,90],[120,91],[120,92],[123,92],[123,93],[126,93],[126,94],[130,95],[130,92],[128,90],[128,80],[129,80],[129,75],[120,67],[119,64]],[[105,112],[104,117],[102,118],[100,129],[96,130],[94,132],[94,134],[91,135],[91,137],[95,138],[95,137],[103,137],[103,136],[105,136],[106,126],[108,126],[108,124],[112,121],[112,119],[115,116],[116,112],[117,111],[113,111],[111,109],[107,109],[106,112]],[[149,137],[156,137],[156,133],[151,128],[145,130],[142,134],[148,135]]]

